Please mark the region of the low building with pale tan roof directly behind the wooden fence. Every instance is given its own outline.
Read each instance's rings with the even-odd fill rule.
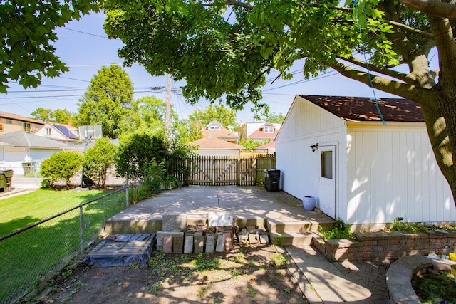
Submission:
[[[221,140],[217,137],[204,137],[187,145],[195,147],[194,152],[202,156],[229,156],[239,157],[239,151],[244,147],[241,145]]]

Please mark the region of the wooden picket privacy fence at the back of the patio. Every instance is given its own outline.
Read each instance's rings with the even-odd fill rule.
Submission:
[[[276,157],[275,154],[243,158],[195,156],[177,159],[172,167],[175,177],[185,184],[254,186],[264,184],[264,172],[276,167]]]

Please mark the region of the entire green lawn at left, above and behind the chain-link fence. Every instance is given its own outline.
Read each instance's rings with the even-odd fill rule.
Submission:
[[[107,192],[36,192],[0,200],[0,236],[60,214]],[[125,209],[125,192],[117,192],[70,211],[0,242],[0,303],[14,303],[48,276],[80,253],[93,241],[110,216]]]

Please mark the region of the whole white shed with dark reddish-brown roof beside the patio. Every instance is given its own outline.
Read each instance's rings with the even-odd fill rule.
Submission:
[[[281,189],[315,196],[328,216],[355,229],[402,217],[455,222],[456,208],[410,100],[297,95],[276,137]]]

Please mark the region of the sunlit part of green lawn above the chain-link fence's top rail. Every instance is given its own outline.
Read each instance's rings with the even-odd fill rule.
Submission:
[[[108,191],[56,191],[38,189],[0,200],[0,236],[90,201]]]

